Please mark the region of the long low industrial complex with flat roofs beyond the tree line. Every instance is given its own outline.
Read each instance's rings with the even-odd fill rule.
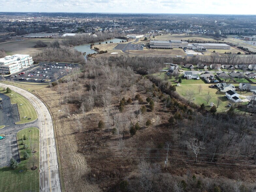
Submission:
[[[189,44],[187,41],[169,40],[169,41],[150,41],[150,48],[156,49],[193,49],[197,51],[206,51],[206,49],[230,49],[230,45],[225,43],[193,43]]]

